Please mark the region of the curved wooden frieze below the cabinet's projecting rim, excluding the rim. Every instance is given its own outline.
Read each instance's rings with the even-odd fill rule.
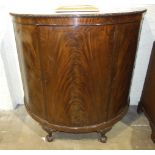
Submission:
[[[52,26],[77,26],[77,25],[102,25],[102,24],[120,24],[120,23],[128,23],[128,22],[138,22],[141,20],[143,14],[135,13],[135,14],[125,14],[125,15],[116,15],[116,16],[97,16],[97,17],[20,17],[20,16],[12,16],[13,22],[17,24],[24,25],[52,25]]]

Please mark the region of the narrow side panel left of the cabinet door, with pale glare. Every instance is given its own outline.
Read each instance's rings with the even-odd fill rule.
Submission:
[[[40,58],[36,27],[14,24],[25,104],[30,111],[44,118]]]

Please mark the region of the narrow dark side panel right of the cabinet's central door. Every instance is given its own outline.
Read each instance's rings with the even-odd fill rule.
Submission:
[[[118,24],[115,31],[114,68],[108,119],[129,103],[140,22]]]

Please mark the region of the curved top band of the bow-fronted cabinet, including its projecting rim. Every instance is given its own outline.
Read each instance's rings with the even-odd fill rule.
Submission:
[[[55,14],[55,15],[24,15],[11,14],[13,22],[26,25],[51,25],[51,26],[75,26],[75,25],[107,25],[138,22],[146,10],[139,12],[124,12],[110,14]]]

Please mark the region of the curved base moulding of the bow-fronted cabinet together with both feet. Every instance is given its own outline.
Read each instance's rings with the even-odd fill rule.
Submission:
[[[102,143],[105,143],[107,141],[107,137],[105,134],[112,129],[112,126],[121,120],[124,115],[127,113],[129,105],[127,105],[115,118],[111,119],[108,122],[103,122],[95,125],[90,126],[83,126],[83,127],[68,127],[68,126],[61,126],[61,125],[55,125],[51,124],[48,121],[38,117],[34,113],[31,112],[30,108],[27,104],[25,104],[27,112],[30,114],[30,116],[39,122],[39,124],[42,126],[42,128],[48,133],[46,136],[46,140],[48,142],[53,141],[53,133],[60,131],[60,132],[66,132],[66,133],[90,133],[90,132],[97,132],[100,134],[99,141]]]

